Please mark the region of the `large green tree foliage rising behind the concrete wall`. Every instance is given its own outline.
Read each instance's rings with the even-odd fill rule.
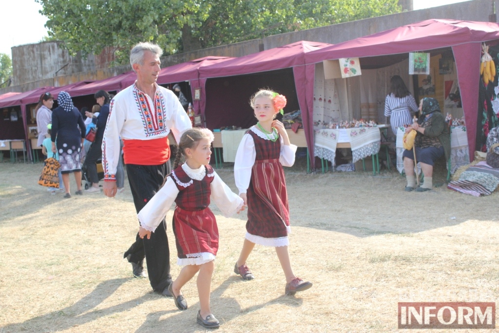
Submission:
[[[399,12],[398,0],[36,0],[71,52],[153,41],[165,54]]]

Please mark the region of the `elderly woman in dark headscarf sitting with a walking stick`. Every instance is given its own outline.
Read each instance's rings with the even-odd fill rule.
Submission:
[[[414,122],[406,129],[410,132],[412,129],[418,133],[414,140],[416,151],[416,161],[420,163],[421,170],[425,175],[424,183],[416,188],[416,176],[414,174],[414,152],[404,150],[402,158],[404,161],[404,170],[407,177],[406,191],[416,192],[430,191],[433,181],[433,165],[441,156],[445,155],[446,161],[451,154],[451,139],[449,136],[449,127],[445,122],[444,115],[440,112],[438,101],[435,98],[423,98],[419,104],[421,116],[418,122]]]

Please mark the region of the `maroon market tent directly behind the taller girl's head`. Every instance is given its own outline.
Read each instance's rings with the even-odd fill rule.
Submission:
[[[206,99],[211,102],[210,105],[205,105],[205,107],[201,108],[201,113],[207,122],[207,126],[209,128],[217,128],[222,124],[217,119],[236,119],[239,112],[241,112],[241,105],[246,105],[246,108],[248,108],[249,98],[245,97],[255,91],[249,90],[250,88],[245,85],[245,79],[249,78],[248,75],[259,74],[259,78],[253,79],[253,82],[261,82],[263,85],[260,84],[260,88],[267,86],[266,82],[269,80],[276,82],[274,88],[278,88],[276,85],[279,85],[279,83],[277,82],[280,82],[282,85],[286,83],[294,85],[296,96],[287,97],[288,99],[297,99],[297,106],[301,110],[307,145],[308,147],[313,146],[312,119],[309,117],[312,100],[309,100],[308,96],[313,94],[314,65],[305,64],[305,54],[327,46],[331,46],[331,44],[302,40],[200,68],[201,98],[202,100]],[[285,69],[288,69],[289,73],[287,75],[285,71],[280,71]],[[265,73],[269,75],[264,76]],[[280,77],[281,74],[284,75]],[[239,75],[238,79],[228,79],[223,82],[225,84],[219,87],[218,93],[212,93],[208,97],[204,94],[205,90],[210,89],[207,86],[207,79],[234,77],[236,75]],[[221,82],[221,80],[217,82]],[[215,89],[213,86],[211,88]],[[231,96],[236,96],[236,98],[232,99]],[[230,103],[231,106],[222,110],[221,105],[224,102],[226,104]]]

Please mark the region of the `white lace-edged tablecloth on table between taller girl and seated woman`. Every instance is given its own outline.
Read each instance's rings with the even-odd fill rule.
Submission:
[[[314,131],[314,155],[333,165],[338,143],[348,142],[352,149],[352,163],[377,154],[381,144],[378,127],[318,129]]]

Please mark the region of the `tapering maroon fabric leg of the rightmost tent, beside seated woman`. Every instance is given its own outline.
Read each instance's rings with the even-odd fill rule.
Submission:
[[[480,42],[452,47],[458,70],[459,91],[461,92],[461,103],[465,114],[470,160],[475,157],[477,141],[481,47],[482,43]]]

